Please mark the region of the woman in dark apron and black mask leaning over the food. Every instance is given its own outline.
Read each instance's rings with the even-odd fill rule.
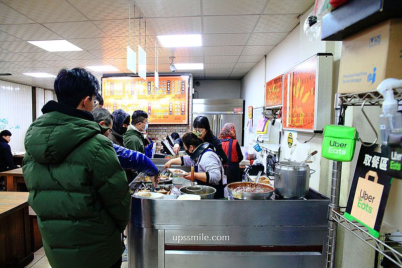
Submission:
[[[165,168],[170,168],[172,164],[191,166],[194,163],[194,180],[197,184],[215,188],[215,199],[228,197],[226,175],[214,147],[191,132],[184,134],[182,141],[187,155],[170,159]],[[186,173],[184,178],[191,180],[191,173]]]

